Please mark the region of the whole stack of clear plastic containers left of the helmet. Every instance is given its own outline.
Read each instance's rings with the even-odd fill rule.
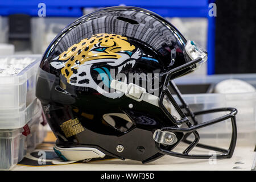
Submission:
[[[11,169],[46,136],[35,97],[40,57],[0,56],[0,169]]]

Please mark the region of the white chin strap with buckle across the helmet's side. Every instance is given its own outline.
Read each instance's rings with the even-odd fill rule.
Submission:
[[[159,107],[159,97],[156,97],[146,92],[146,89],[141,86],[130,83],[129,85],[122,81],[112,80],[110,87],[125,93],[125,96],[132,98],[135,101],[148,102],[149,104]]]

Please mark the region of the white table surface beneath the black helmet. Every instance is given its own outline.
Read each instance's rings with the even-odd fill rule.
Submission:
[[[163,156],[162,158],[155,160],[154,162],[142,164],[134,160],[119,160],[109,159],[100,160],[97,162],[89,163],[73,163],[65,165],[52,165],[43,167],[27,167],[27,166],[15,166],[12,170],[14,171],[37,171],[37,170],[99,170],[99,171],[129,171],[129,170],[251,170],[255,166],[255,146],[243,146],[237,145],[234,151],[233,157],[230,159],[218,159],[216,163],[209,164],[209,160],[206,159],[181,159],[172,156]],[[197,148],[195,152],[203,152],[200,148]],[[236,162],[242,162],[243,164],[236,164]],[[241,167],[240,169],[234,169],[234,167]]]

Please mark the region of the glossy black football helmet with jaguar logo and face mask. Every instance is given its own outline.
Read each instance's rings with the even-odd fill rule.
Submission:
[[[47,48],[36,82],[55,152],[67,161],[112,156],[146,163],[165,154],[209,159],[189,154],[202,147],[230,158],[237,110],[193,112],[172,81],[206,60],[204,49],[151,11],[109,7],[77,19]],[[221,111],[228,114],[197,122],[197,115]],[[227,150],[199,143],[197,129],[226,119],[233,129]],[[175,152],[180,142],[188,147]]]

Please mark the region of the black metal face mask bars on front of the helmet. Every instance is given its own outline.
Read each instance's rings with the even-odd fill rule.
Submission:
[[[189,154],[189,152],[194,147],[201,147],[201,148],[205,148],[205,149],[208,149],[208,150],[221,152],[222,154],[214,155],[216,157],[216,159],[231,158],[232,155],[233,155],[233,152],[234,152],[234,148],[236,146],[236,139],[237,139],[237,127],[236,127],[237,109],[228,107],[228,108],[197,111],[197,112],[193,113],[193,111],[191,111],[189,109],[188,104],[181,97],[181,93],[180,93],[179,89],[177,89],[177,86],[171,80],[172,75],[174,75],[175,73],[184,71],[185,69],[187,69],[189,67],[193,67],[193,65],[199,64],[200,61],[202,61],[202,58],[198,57],[197,59],[195,59],[193,61],[189,61],[188,63],[186,63],[184,65],[181,65],[180,67],[177,67],[175,69],[172,69],[170,72],[168,72],[168,74],[166,76],[166,80],[164,81],[163,90],[160,93],[159,103],[158,103],[159,107],[163,110],[163,112],[167,115],[167,117],[170,119],[170,121],[172,123],[174,123],[177,126],[181,125],[181,124],[187,125],[186,128],[183,128],[183,127],[181,128],[179,126],[178,127],[163,127],[161,129],[161,131],[168,131],[168,132],[172,132],[172,133],[179,133],[179,132],[185,133],[182,141],[184,143],[189,144],[189,146],[182,153],[165,150],[164,148],[161,147],[161,143],[156,144],[156,147],[158,148],[159,152],[162,153],[162,154],[176,156],[176,157],[180,157],[180,158],[209,159],[210,157],[213,156],[213,155],[192,155],[192,154]],[[167,87],[168,84],[170,84],[170,86],[172,87],[174,92],[177,94],[177,97],[181,101],[182,108],[184,108],[187,111],[186,114],[183,113],[183,111],[181,110],[181,107],[179,105],[177,105],[176,101],[172,97],[172,94],[171,94],[170,90]],[[177,113],[181,117],[180,120],[176,120],[177,117],[171,115],[171,113],[163,105],[163,100],[164,100],[165,96],[168,98],[168,100],[171,101],[171,104],[174,105]],[[196,121],[196,115],[216,113],[216,112],[221,112],[221,111],[229,111],[230,113],[226,114],[226,115],[223,115],[222,117],[218,117],[216,119],[212,119],[210,121],[206,121],[206,122],[203,122],[203,123],[200,123],[200,124],[198,124],[198,122]],[[193,124],[189,121],[189,119],[187,117],[191,117]],[[206,127],[206,126],[209,126],[209,125],[213,125],[213,124],[221,122],[221,121],[225,121],[226,119],[229,119],[229,118],[231,119],[231,122],[232,122],[232,139],[231,139],[228,150],[225,150],[224,148],[218,148],[218,147],[208,146],[208,145],[199,143],[200,136],[199,136],[199,133],[196,130],[201,129],[201,128]],[[195,136],[195,140],[193,140],[193,141],[189,141],[187,139],[189,137],[189,135],[191,135],[191,134],[193,134]]]

